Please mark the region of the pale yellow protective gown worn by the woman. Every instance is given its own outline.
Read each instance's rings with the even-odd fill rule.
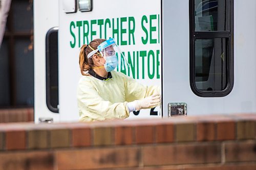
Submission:
[[[160,93],[159,86],[144,86],[122,72],[111,71],[112,78],[102,81],[82,76],[77,88],[79,120],[93,122],[129,117],[127,102]]]

